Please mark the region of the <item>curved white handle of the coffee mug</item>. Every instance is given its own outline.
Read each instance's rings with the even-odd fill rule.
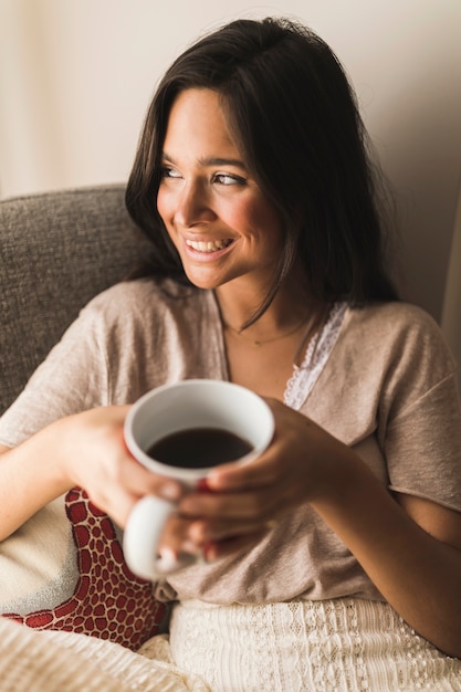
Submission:
[[[176,510],[172,502],[154,495],[135,504],[124,531],[123,549],[126,564],[136,576],[153,581],[197,562],[190,553],[175,556],[169,549],[158,549],[165,524]]]

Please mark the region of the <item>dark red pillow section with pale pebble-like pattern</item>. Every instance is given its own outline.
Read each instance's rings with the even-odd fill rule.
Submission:
[[[4,617],[36,629],[83,632],[138,649],[158,633],[167,606],[154,598],[150,583],[130,573],[112,521],[84,491],[75,487],[66,494],[65,513],[76,548],[73,594],[51,609]]]

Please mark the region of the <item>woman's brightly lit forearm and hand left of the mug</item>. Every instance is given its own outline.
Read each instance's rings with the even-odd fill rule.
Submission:
[[[0,448],[0,541],[71,487],[124,526],[145,494],[177,499],[180,486],[144,469],[123,442],[128,406],[62,418],[14,449]]]

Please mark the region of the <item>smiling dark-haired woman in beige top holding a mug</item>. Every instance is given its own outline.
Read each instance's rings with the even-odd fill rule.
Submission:
[[[166,541],[206,564],[156,585],[175,670],[216,691],[461,690],[455,368],[387,275],[334,54],[285,20],[203,38],[159,84],[126,199],[149,275],[95,298],[4,415],[2,537],[75,485],[121,526],[144,494],[176,499]],[[276,432],[185,495],[121,431],[189,377],[266,397]]]

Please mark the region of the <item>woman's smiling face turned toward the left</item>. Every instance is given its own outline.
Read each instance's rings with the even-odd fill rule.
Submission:
[[[186,90],[174,102],[157,208],[193,284],[272,285],[284,242],[280,214],[233,143],[217,92]]]

